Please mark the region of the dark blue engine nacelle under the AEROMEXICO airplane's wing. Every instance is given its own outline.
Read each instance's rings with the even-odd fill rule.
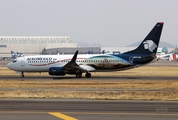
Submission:
[[[65,75],[64,69],[62,67],[51,67],[48,73],[50,75]]]

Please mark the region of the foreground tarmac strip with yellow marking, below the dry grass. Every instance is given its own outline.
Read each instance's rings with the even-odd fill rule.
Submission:
[[[0,119],[177,120],[178,102],[79,99],[1,99]]]

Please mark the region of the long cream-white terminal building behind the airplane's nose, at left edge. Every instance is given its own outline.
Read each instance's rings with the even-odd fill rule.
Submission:
[[[69,36],[0,36],[0,57],[10,57],[11,51],[24,55],[40,54],[44,49],[75,48]]]

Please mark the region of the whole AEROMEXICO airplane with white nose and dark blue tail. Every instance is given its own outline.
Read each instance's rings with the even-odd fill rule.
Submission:
[[[127,70],[157,61],[156,51],[164,22],[158,22],[141,44],[134,50],[122,54],[78,55],[37,55],[14,59],[7,67],[20,72],[48,72],[49,75],[76,75],[77,78],[90,78],[91,72]]]

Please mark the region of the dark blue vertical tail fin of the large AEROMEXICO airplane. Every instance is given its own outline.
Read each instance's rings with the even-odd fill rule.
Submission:
[[[135,50],[123,54],[156,54],[163,24],[164,22],[158,22]]]

